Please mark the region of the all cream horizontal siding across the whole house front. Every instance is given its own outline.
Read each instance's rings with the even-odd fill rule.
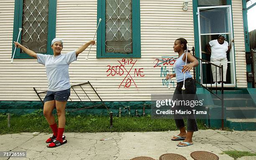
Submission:
[[[183,37],[190,46],[194,46],[192,0],[187,11],[182,10],[184,0],[141,0],[141,58],[132,58],[136,64],[130,74],[137,87],[132,83],[125,88],[120,85],[126,76],[107,76],[110,66],[120,65],[122,58],[96,58],[96,46],[92,46],[89,60],[85,60],[89,48],[81,53],[77,61],[71,63],[69,75],[71,84],[90,81],[104,101],[149,101],[151,94],[172,93],[176,85],[175,79],[171,89],[162,84],[164,76],[160,76],[161,67],[156,65],[156,58],[163,56],[177,57],[172,46],[175,39]],[[234,0],[233,12],[238,20],[234,20],[236,39],[236,63],[245,64],[243,44],[242,11],[239,0]],[[1,0],[0,5],[0,100],[39,100],[33,87],[38,91],[47,89],[46,71],[44,66],[35,59],[15,59],[10,63],[14,0]],[[93,38],[97,26],[97,0],[58,0],[56,37],[63,38],[62,53],[72,51]],[[18,28],[17,28],[18,29]],[[237,38],[237,35],[238,38]],[[126,58],[128,59],[128,58]],[[130,59],[130,58],[129,58]],[[238,65],[237,64],[237,65]],[[162,65],[163,66],[163,65]],[[166,65],[165,65],[166,66]],[[129,71],[131,65],[125,65]],[[135,76],[134,69],[142,69],[144,76]],[[172,67],[171,67],[172,68]],[[168,69],[168,67],[166,68]],[[246,87],[246,68],[237,66],[238,86]],[[125,81],[124,81],[125,82]],[[90,98],[98,101],[90,87],[84,86]],[[77,88],[80,98],[87,100],[82,89]],[[42,95],[44,97],[44,95]],[[72,91],[72,99],[77,99]]]

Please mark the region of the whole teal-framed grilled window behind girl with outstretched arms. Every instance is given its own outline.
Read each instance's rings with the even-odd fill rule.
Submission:
[[[15,0],[13,41],[26,48],[44,54],[53,54],[51,40],[56,30],[56,0]],[[14,51],[14,45],[13,45]],[[32,58],[19,48],[14,58]]]

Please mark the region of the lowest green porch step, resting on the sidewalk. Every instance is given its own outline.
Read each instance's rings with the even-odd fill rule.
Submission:
[[[227,127],[233,130],[239,131],[253,131],[256,130],[256,118],[252,119],[230,119],[227,118],[226,121]]]

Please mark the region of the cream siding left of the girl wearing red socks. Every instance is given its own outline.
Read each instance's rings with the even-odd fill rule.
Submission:
[[[0,3],[0,101],[38,100],[32,87],[47,85],[44,66],[34,59],[15,59],[10,63],[14,0],[1,0]]]

